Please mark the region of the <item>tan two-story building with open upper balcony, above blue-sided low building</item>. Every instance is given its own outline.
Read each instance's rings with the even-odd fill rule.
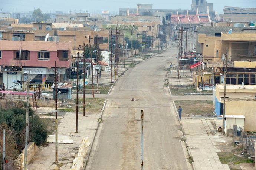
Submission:
[[[227,59],[226,84],[256,85],[256,30],[240,27],[241,32],[228,30],[216,36],[198,35],[205,70],[195,72],[207,84],[224,84],[225,58]],[[199,70],[199,69],[198,69]]]

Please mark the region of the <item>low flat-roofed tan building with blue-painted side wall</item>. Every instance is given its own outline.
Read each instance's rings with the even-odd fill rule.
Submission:
[[[256,85],[216,85],[213,91],[215,113],[218,117],[223,115],[224,93],[226,93],[225,117],[244,116],[244,131],[256,132]]]

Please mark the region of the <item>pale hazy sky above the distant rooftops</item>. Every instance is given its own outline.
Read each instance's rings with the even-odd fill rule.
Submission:
[[[43,13],[63,11],[65,13],[119,14],[119,8],[136,8],[136,4],[153,4],[154,9],[191,9],[192,0],[0,0],[0,10],[6,13],[27,12],[40,8]],[[256,0],[207,0],[213,10],[223,13],[224,6],[256,8]],[[256,20],[256,19],[255,19]]]

